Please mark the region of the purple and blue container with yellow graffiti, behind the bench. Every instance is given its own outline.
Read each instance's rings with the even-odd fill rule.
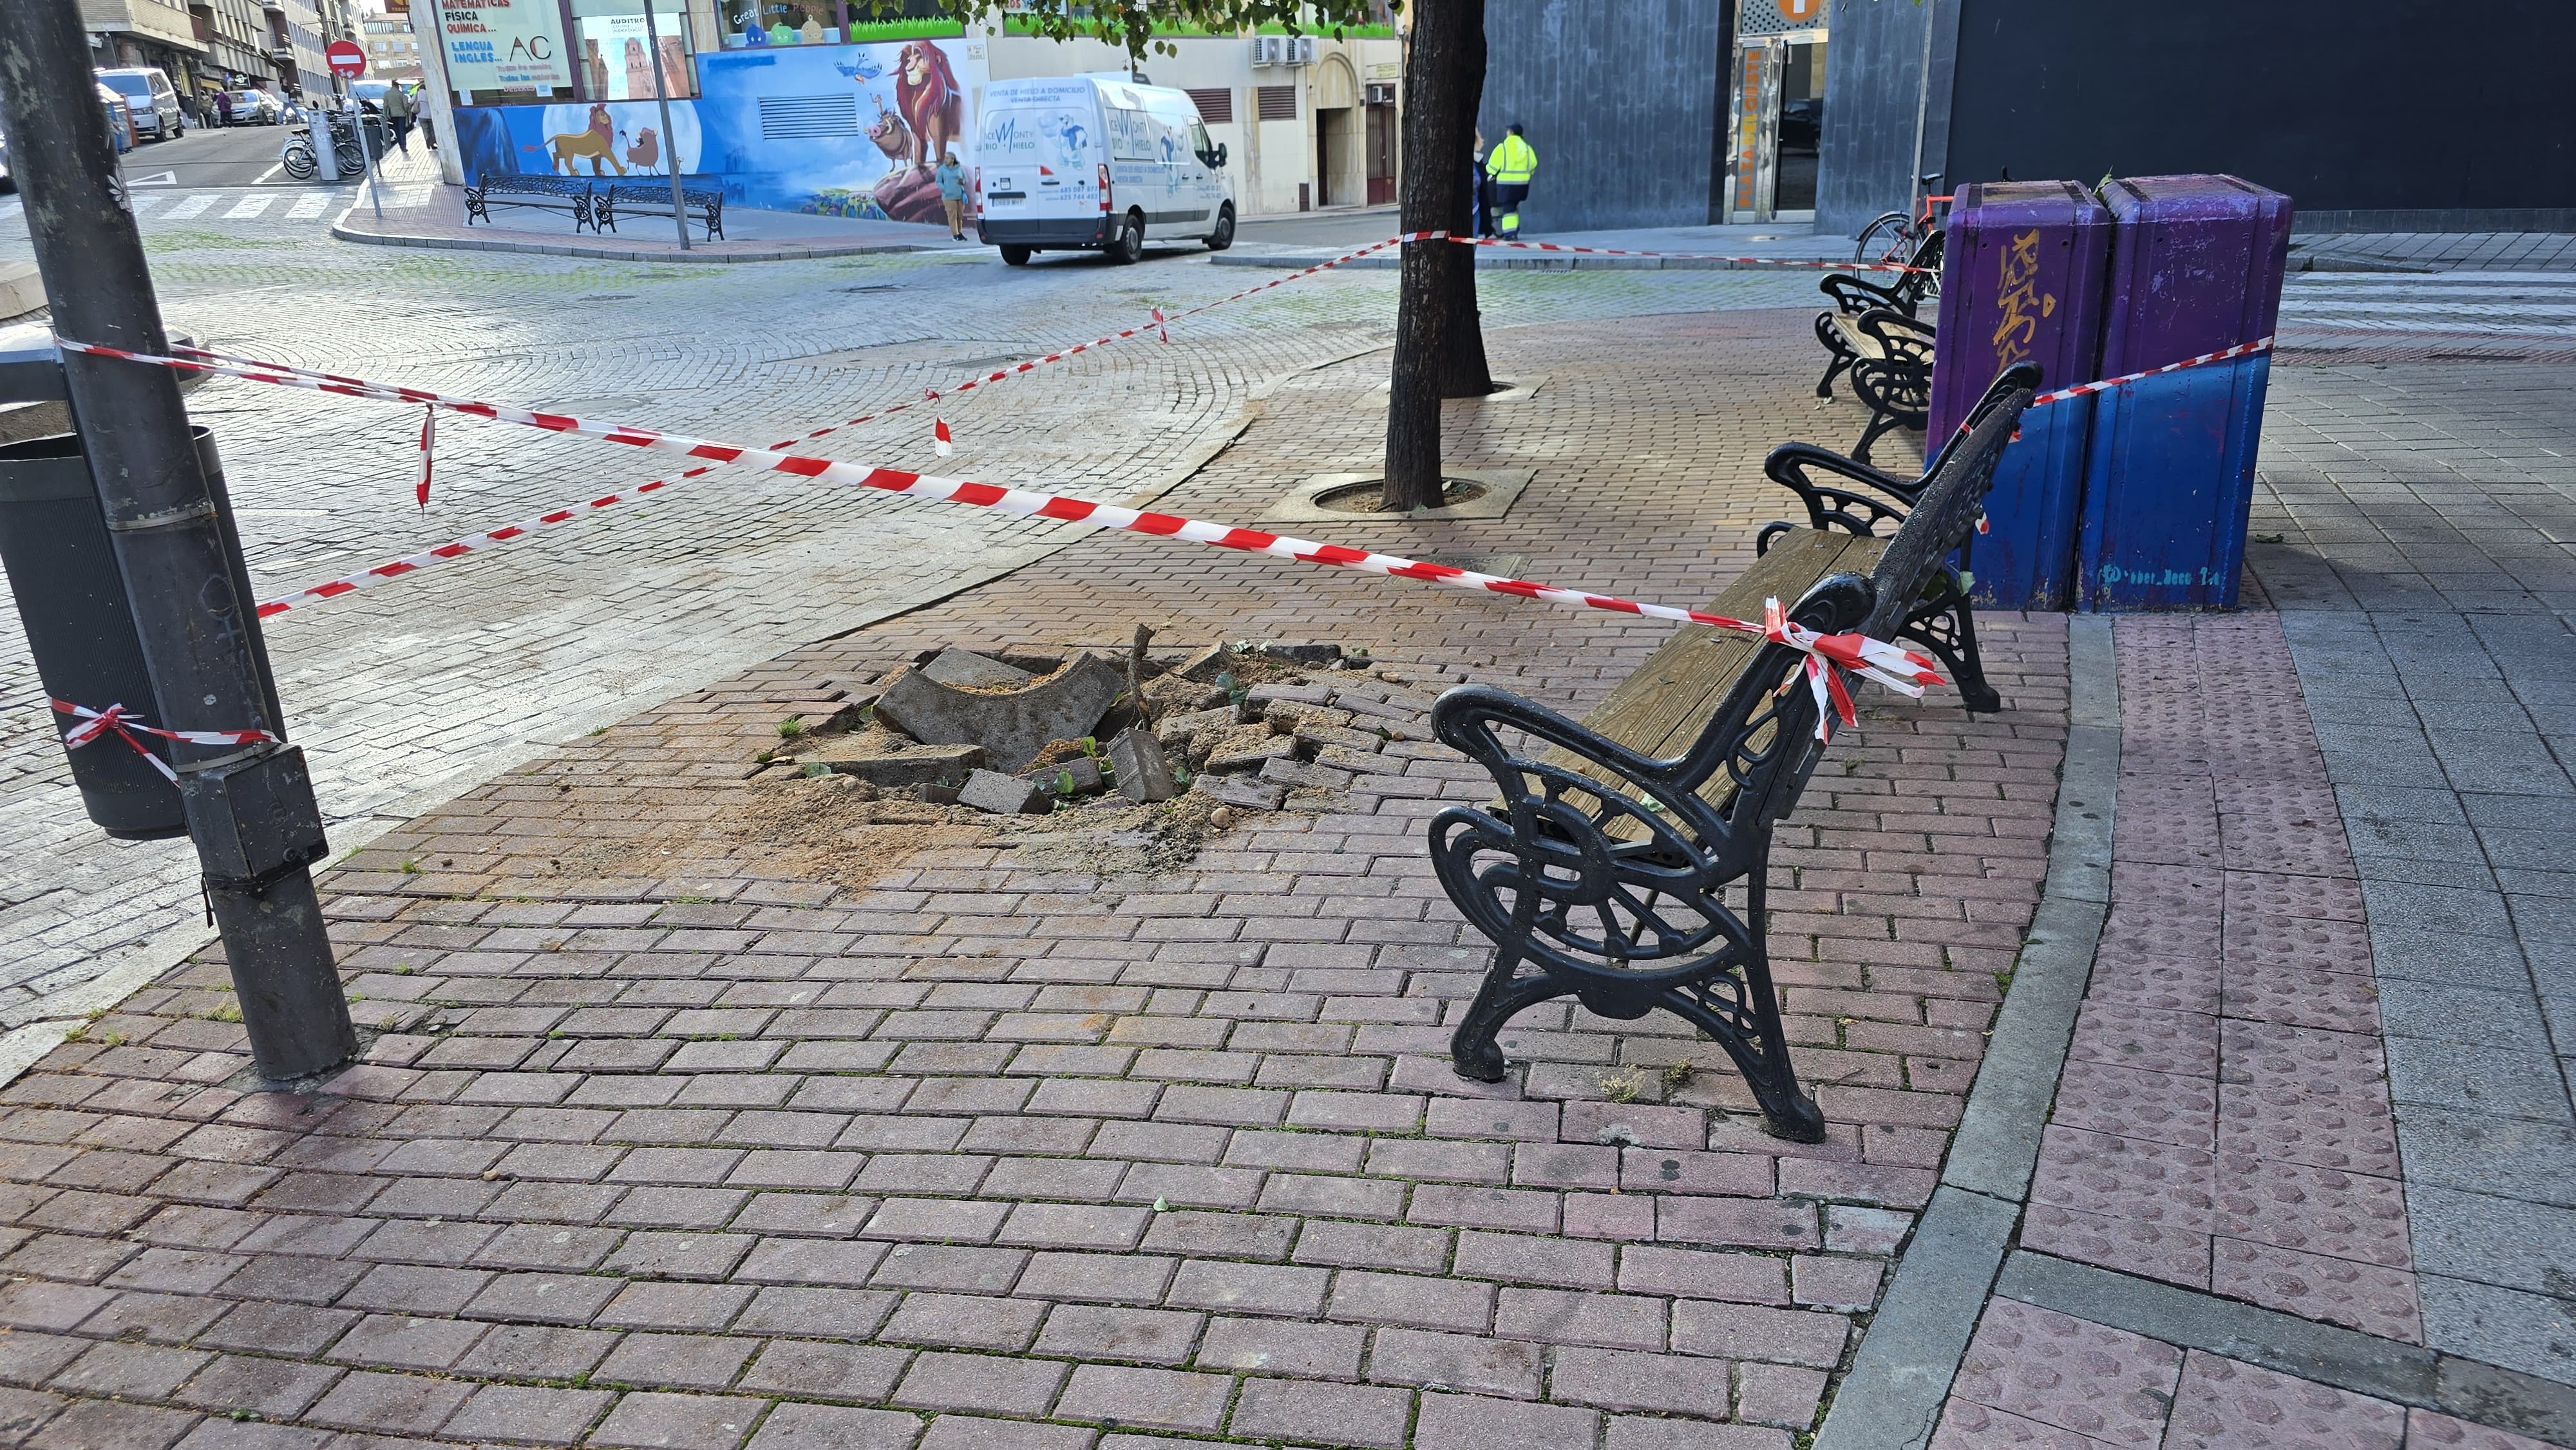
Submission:
[[[2038,363],[2048,389],[2094,376],[2107,260],[2110,211],[2071,180],[1958,188],[1942,237],[1927,453],[1940,451],[2012,363]],[[2066,608],[2092,402],[2025,412],[2022,435],[2004,448],[1986,494],[1986,533],[1968,546],[1968,598],[1981,608]]]

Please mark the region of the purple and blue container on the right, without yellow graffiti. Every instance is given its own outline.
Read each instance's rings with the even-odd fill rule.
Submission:
[[[2112,214],[2102,376],[2269,337],[2290,198],[2233,175],[2141,175]],[[2076,536],[2087,610],[2233,608],[2272,355],[2123,384],[2094,399]]]

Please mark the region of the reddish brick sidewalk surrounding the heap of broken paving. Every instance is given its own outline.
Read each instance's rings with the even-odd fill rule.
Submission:
[[[1814,412],[1801,337],[1497,332],[1504,376],[1548,381],[1461,407],[1455,461],[1538,487],[1502,523],[1334,536],[1703,600],[1785,502],[1759,456],[1852,428]],[[1381,368],[1280,389],[1172,507],[1242,520],[1368,466]],[[708,824],[783,701],[1136,621],[1368,644],[1396,711],[1455,677],[1582,708],[1662,634],[1105,536],[471,791],[325,878],[368,1066],[245,1095],[201,958],[5,1089],[0,1422],[193,1450],[1788,1447],[2040,891],[2061,621],[1989,621],[2004,716],[1873,695],[1783,832],[1814,1149],[1654,1017],[1540,1007],[1507,1084],[1450,1074],[1484,950],[1419,829],[1484,786],[1430,744],[1157,878],[933,840],[848,889]]]

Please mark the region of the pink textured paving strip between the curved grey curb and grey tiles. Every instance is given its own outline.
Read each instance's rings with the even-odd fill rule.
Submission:
[[[2421,1342],[2342,811],[2300,711],[2257,734],[2213,706],[2249,672],[2295,680],[2277,616],[2130,616],[2115,654],[2123,819],[2133,786],[2187,814],[2208,798],[2228,868],[2213,912],[2208,863],[2130,863],[2151,832],[2115,834],[2105,950],[2022,1241]]]

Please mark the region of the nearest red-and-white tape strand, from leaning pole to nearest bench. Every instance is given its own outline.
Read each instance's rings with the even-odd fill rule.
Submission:
[[[1363,574],[1388,574],[1388,577],[1404,577],[1404,579],[1427,579],[1427,582],[1435,582],[1435,585],[1450,585],[1450,587],[1461,587],[1461,590],[1481,590],[1481,592],[1497,592],[1497,595],[1520,595],[1520,598],[1546,600],[1546,603],[1571,605],[1571,608],[1595,608],[1595,610],[1610,610],[1610,613],[1631,613],[1631,616],[1643,616],[1643,618],[1664,618],[1664,621],[1674,621],[1674,623],[1703,623],[1703,626],[1710,626],[1710,628],[1723,628],[1723,631],[1734,631],[1734,634],[1754,634],[1754,636],[1762,636],[1762,639],[1772,639],[1777,644],[1788,644],[1790,649],[1798,649],[1801,654],[1806,654],[1811,659],[1821,659],[1821,662],[1842,667],[1842,670],[1855,670],[1855,672],[1860,672],[1860,675],[1865,675],[1870,680],[1878,680],[1878,683],[1883,683],[1883,685],[1888,685],[1893,690],[1904,690],[1909,695],[1922,695],[1924,685],[1940,685],[1942,683],[1942,677],[1932,670],[1932,662],[1924,659],[1922,654],[1911,654],[1911,652],[1899,649],[1893,644],[1883,644],[1883,641],[1865,639],[1865,636],[1857,636],[1857,634],[1819,636],[1819,634],[1811,634],[1811,631],[1803,631],[1803,628],[1795,628],[1795,626],[1783,626],[1783,628],[1775,631],[1770,626],[1749,623],[1749,621],[1741,621],[1741,618],[1726,618],[1726,616],[1713,616],[1713,613],[1700,613],[1700,610],[1685,610],[1685,608],[1672,608],[1672,605],[1646,605],[1646,603],[1623,600],[1623,598],[1615,598],[1615,595],[1592,595],[1592,592],[1584,592],[1584,590],[1561,590],[1556,585],[1535,585],[1530,579],[1504,579],[1499,574],[1476,574],[1471,569],[1458,569],[1458,567],[1450,567],[1450,564],[1422,564],[1417,559],[1401,559],[1401,556],[1394,556],[1394,554],[1370,554],[1365,549],[1345,549],[1340,543],[1311,543],[1306,538],[1288,538],[1288,536],[1278,536],[1278,533],[1262,533],[1257,528],[1236,528],[1236,525],[1226,525],[1226,523],[1200,523],[1200,520],[1180,518],[1180,515],[1170,515],[1170,513],[1139,513],[1139,510],[1131,510],[1131,507],[1097,505],[1097,502],[1090,502],[1090,500],[1072,500],[1072,497],[1061,497],[1061,494],[1041,494],[1041,492],[1033,492],[1033,489],[1010,489],[1010,487],[999,487],[999,484],[979,484],[979,482],[971,482],[971,479],[940,479],[940,476],[930,476],[930,474],[914,474],[914,471],[907,471],[907,469],[878,469],[878,466],[868,466],[868,464],[837,464],[832,458],[809,458],[809,456],[799,456],[799,453],[781,453],[775,448],[742,448],[737,443],[716,443],[716,440],[708,440],[708,438],[688,438],[683,433],[657,433],[652,428],[634,428],[634,425],[623,425],[623,422],[592,422],[592,420],[569,417],[569,415],[559,415],[559,412],[528,412],[528,410],[520,410],[520,407],[502,407],[502,404],[479,402],[479,399],[459,399],[459,397],[446,397],[446,394],[433,394],[433,391],[425,391],[425,389],[410,389],[410,386],[394,386],[394,384],[374,384],[374,381],[366,381],[366,379],[350,379],[350,376],[337,376],[337,373],[332,373],[330,381],[322,381],[317,376],[296,376],[296,371],[291,371],[291,368],[276,368],[276,366],[234,366],[234,363],[211,363],[211,361],[191,361],[191,358],[167,358],[167,355],[160,355],[160,353],[131,353],[131,350],[124,350],[124,348],[103,348],[103,345],[95,345],[95,343],[72,343],[72,340],[57,340],[57,343],[62,348],[67,348],[67,350],[75,350],[75,353],[93,353],[93,355],[106,355],[106,358],[124,358],[124,361],[131,361],[131,363],[152,363],[152,366],[160,366],[160,368],[178,368],[178,371],[209,371],[209,373],[222,373],[222,376],[237,376],[242,381],[255,381],[255,384],[301,386],[301,389],[314,389],[314,391],[343,394],[343,397],[371,397],[371,399],[389,399],[389,402],[407,402],[407,404],[433,402],[438,407],[448,407],[453,412],[464,412],[464,415],[471,415],[471,417],[487,417],[487,420],[495,420],[495,422],[515,422],[515,425],[538,428],[538,430],[546,430],[546,433],[569,433],[569,435],[580,435],[580,438],[600,438],[605,443],[626,443],[631,448],[654,448],[654,451],[662,451],[662,453],[680,453],[680,456],[688,456],[688,458],[706,458],[706,461],[714,461],[714,464],[737,464],[737,466],[765,469],[765,471],[775,471],[775,474],[796,474],[801,479],[827,479],[827,482],[840,482],[840,484],[860,484],[860,487],[871,487],[871,489],[889,492],[889,494],[904,494],[904,497],[920,497],[920,500],[935,500],[935,502],[961,502],[961,505],[989,507],[989,510],[1012,513],[1012,515],[1023,515],[1023,518],[1051,518],[1051,520],[1061,520],[1061,523],[1084,523],[1090,528],[1118,528],[1118,531],[1128,531],[1128,533],[1149,533],[1149,536],[1162,536],[1162,538],[1188,538],[1193,543],[1211,543],[1216,549],[1236,549],[1236,551],[1244,551],[1244,554],[1270,554],[1275,559],[1296,559],[1301,564],[1324,564],[1324,567],[1334,567],[1334,569],[1355,569],[1355,572],[1363,572]],[[636,492],[644,492],[644,489],[636,489]],[[616,494],[611,494],[608,500],[600,500],[600,502],[595,502],[590,507],[605,507],[608,502],[616,502]],[[559,515],[569,518],[569,510],[559,510]],[[562,518],[549,518],[546,523],[559,523]],[[487,536],[487,538],[495,538],[495,536]],[[461,554],[469,546],[471,543],[459,541],[459,546],[446,546],[446,549],[453,549],[453,551]],[[443,549],[433,549],[428,554],[430,556],[446,556]],[[412,567],[417,569],[420,564],[412,564]],[[410,572],[410,569],[404,569],[404,572]],[[371,574],[381,574],[381,569],[374,569]],[[358,587],[358,585],[350,585],[350,587]],[[348,590],[337,590],[337,592],[348,592]],[[260,613],[273,613],[273,610],[268,605],[260,605]]]

